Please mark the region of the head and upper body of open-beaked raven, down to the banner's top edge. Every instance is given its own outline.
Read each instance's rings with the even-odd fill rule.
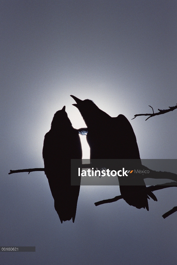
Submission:
[[[92,100],[71,97],[88,128],[90,159],[140,159],[135,133],[124,115],[111,117]]]

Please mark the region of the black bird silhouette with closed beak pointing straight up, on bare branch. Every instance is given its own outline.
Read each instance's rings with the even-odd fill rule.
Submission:
[[[44,170],[61,223],[75,220],[80,186],[71,186],[71,159],[82,158],[78,130],[72,127],[65,106],[58,110],[46,133],[42,150]]]

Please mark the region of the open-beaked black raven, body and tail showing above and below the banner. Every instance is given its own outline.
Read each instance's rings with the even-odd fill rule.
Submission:
[[[135,133],[124,115],[111,117],[92,100],[71,97],[76,101],[73,106],[78,108],[88,128],[86,139],[90,146],[90,159],[136,159],[136,165],[142,165]],[[145,188],[143,179],[138,186],[120,183],[122,198],[129,205],[149,210]]]

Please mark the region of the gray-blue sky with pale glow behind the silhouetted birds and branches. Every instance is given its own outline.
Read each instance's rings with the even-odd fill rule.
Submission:
[[[42,146],[64,105],[73,127],[85,124],[75,95],[132,124],[141,158],[176,159],[177,110],[135,114],[177,103],[176,1],[1,2],[1,264],[176,264],[176,188],[154,192],[149,212],[125,201],[94,206],[119,187],[81,186],[75,223],[60,223],[44,173]],[[82,136],[83,158],[89,158]]]

